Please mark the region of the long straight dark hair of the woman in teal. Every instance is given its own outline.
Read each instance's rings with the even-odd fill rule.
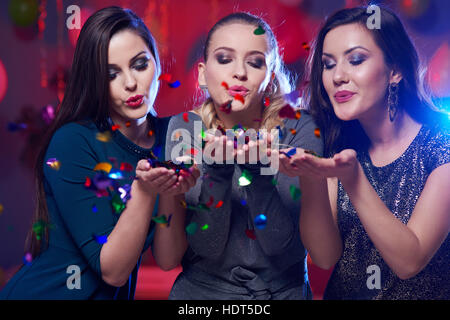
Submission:
[[[36,209],[33,225],[38,224],[41,229],[43,227],[43,232],[36,235],[31,228],[27,235],[25,250],[33,257],[39,255],[48,244],[49,215],[43,186],[43,165],[48,145],[55,131],[69,122],[89,119],[101,131],[110,129],[108,47],[111,37],[124,29],[132,30],[142,38],[153,54],[157,74],[160,73],[155,40],[144,22],[133,11],[112,6],[95,12],[86,20],[75,48],[64,99],[45,134],[36,159]]]

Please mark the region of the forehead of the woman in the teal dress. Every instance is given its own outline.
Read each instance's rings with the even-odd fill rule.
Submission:
[[[108,62],[122,58],[130,59],[140,51],[150,52],[144,40],[131,30],[122,30],[114,34],[109,41]]]

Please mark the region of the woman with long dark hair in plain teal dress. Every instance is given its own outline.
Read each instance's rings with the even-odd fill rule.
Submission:
[[[133,299],[150,245],[161,268],[179,264],[181,203],[199,172],[154,165],[168,123],[153,108],[160,73],[155,41],[132,11],[109,7],[86,21],[38,156],[24,265],[0,298]]]

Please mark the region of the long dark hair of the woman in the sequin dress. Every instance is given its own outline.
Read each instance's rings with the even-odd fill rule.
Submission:
[[[437,110],[427,95],[417,51],[400,19],[390,10],[380,8],[380,28],[367,29],[383,51],[387,66],[402,74],[399,83],[399,108],[405,110],[419,123],[436,121]],[[321,27],[308,59],[304,91],[304,104],[311,112],[325,139],[325,155],[332,156],[346,148],[367,148],[370,140],[358,120],[342,121],[336,117],[322,83],[322,50],[327,33],[342,25],[358,23],[367,25],[371,13],[367,7],[342,9],[330,16]]]

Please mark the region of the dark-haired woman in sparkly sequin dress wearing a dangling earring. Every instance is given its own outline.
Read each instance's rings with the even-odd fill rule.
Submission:
[[[449,299],[450,134],[402,23],[368,11],[328,18],[310,58],[328,158],[282,155],[282,172],[300,176],[312,260],[334,266],[325,299]]]

